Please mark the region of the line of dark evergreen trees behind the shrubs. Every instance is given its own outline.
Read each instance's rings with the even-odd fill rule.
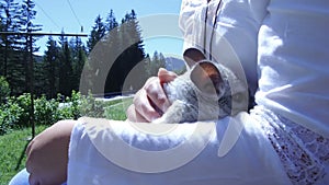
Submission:
[[[1,0],[0,32],[42,31],[42,24],[35,23],[36,13],[32,0]],[[8,82],[10,94],[18,96],[29,92],[29,54],[31,48],[32,53],[38,51],[38,38],[0,36],[0,76]],[[53,99],[58,93],[69,96],[72,90],[99,95],[138,90],[159,67],[166,66],[166,59],[158,51],[152,57],[145,53],[134,10],[121,22],[110,10],[105,19],[97,15],[87,43],[80,37],[49,36],[44,55],[34,55],[33,63],[34,93]]]

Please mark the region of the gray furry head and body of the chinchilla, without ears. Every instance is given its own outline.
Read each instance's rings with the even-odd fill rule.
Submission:
[[[202,62],[208,61],[201,61],[197,65]],[[214,86],[219,93],[205,93],[191,80],[197,65],[163,85],[172,105],[154,123],[214,120],[248,108],[248,89],[231,70],[220,63],[212,63],[219,71],[223,82]]]

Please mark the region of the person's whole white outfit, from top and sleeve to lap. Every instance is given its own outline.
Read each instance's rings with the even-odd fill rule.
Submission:
[[[205,41],[215,59],[241,61],[248,83],[259,70],[258,106],[198,124],[81,118],[71,135],[68,184],[329,184],[328,3],[224,0],[223,30]],[[203,49],[204,27],[195,20],[202,22],[205,4],[183,0],[185,48]]]

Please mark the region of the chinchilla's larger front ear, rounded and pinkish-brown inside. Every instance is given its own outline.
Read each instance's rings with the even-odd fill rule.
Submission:
[[[202,92],[217,94],[220,96],[223,90],[223,79],[217,67],[211,61],[203,60],[197,62],[191,71],[191,80]]]

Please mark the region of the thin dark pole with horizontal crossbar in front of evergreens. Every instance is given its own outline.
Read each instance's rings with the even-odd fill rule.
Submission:
[[[33,63],[33,36],[76,36],[76,37],[87,37],[87,34],[58,34],[58,33],[33,33],[33,32],[0,32],[0,35],[23,35],[26,36],[26,46],[29,46],[29,63],[27,63],[27,79],[30,81],[29,84],[29,93],[31,99],[31,106],[30,106],[30,124],[32,127],[32,139],[35,137],[35,122],[34,122],[34,63]],[[7,50],[5,50],[7,53]],[[7,55],[4,60],[7,61]]]

